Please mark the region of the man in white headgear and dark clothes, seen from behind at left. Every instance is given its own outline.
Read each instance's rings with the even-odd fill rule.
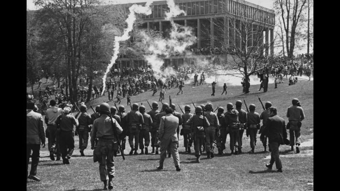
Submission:
[[[78,126],[79,122],[70,113],[71,108],[64,107],[63,114],[57,118],[55,124],[60,128],[60,151],[63,164],[70,164],[69,159],[74,151],[74,131],[73,125]]]

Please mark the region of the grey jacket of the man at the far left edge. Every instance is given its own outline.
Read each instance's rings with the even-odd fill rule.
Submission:
[[[26,144],[45,143],[45,130],[41,114],[32,109],[26,111]]]

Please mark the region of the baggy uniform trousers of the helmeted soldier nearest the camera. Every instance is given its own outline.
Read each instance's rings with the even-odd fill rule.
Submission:
[[[98,149],[98,152],[100,152],[100,157],[98,160],[100,180],[104,181],[115,177],[113,139],[99,138],[96,149]]]

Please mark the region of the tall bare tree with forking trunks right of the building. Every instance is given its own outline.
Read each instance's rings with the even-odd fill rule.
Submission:
[[[293,3],[292,3],[292,2]],[[286,50],[289,59],[293,57],[297,27],[306,0],[275,0],[274,9],[284,25]],[[291,24],[290,24],[291,23]]]

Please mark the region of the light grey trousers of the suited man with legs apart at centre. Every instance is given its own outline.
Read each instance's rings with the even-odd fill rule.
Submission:
[[[180,166],[180,154],[178,153],[177,145],[178,141],[172,141],[171,137],[160,140],[160,167],[163,167],[164,160],[167,157],[167,150],[170,150],[175,166]]]

